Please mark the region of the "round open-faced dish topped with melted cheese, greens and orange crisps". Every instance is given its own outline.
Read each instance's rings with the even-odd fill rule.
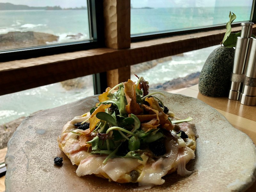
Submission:
[[[138,77],[108,87],[90,111],[64,125],[58,143],[77,176],[96,175],[117,183],[139,183],[135,190],[162,185],[165,175],[193,172],[196,128],[191,117],[180,119]],[[184,111],[183,115],[188,115]]]

